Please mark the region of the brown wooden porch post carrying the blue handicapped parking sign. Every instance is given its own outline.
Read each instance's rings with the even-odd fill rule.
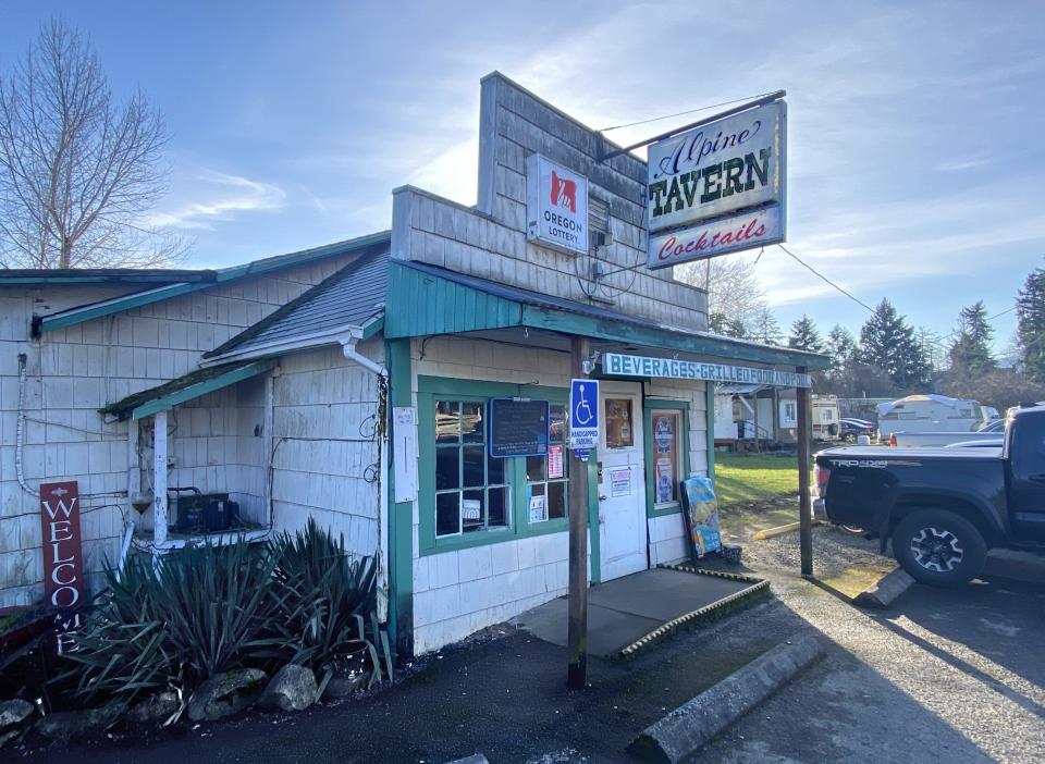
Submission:
[[[587,377],[588,337],[570,343],[570,374]],[[569,452],[569,628],[566,687],[581,690],[588,677],[588,465]]]

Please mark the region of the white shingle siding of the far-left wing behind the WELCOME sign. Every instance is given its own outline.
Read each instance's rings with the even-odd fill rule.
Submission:
[[[126,501],[89,494],[125,491],[132,463],[127,423],[107,424],[98,409],[192,371],[204,352],[297,297],[349,259],[330,258],[245,279],[46,332],[32,341],[34,312],[48,315],[139,289],[123,285],[0,287],[0,606],[29,604],[44,595],[39,506],[35,496],[20,488],[14,467],[20,353],[27,356],[25,478],[33,486],[79,481],[85,571],[88,583],[97,586],[104,558],[114,559],[119,553]],[[206,477],[208,488],[216,490],[229,480],[244,486],[246,503],[256,506],[257,445],[246,435],[253,432],[254,419],[256,411],[248,409],[242,421],[222,420],[222,432],[208,435],[205,447],[194,444],[192,456],[181,453],[181,465],[175,433],[172,484],[184,479],[177,475],[183,470],[200,481]],[[220,479],[214,472],[198,471],[210,470],[217,463],[225,465],[226,473]],[[236,467],[244,466],[236,472]]]

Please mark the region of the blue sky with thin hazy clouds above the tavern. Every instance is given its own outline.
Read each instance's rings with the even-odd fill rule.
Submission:
[[[0,67],[59,14],[173,138],[159,222],[220,267],[390,226],[395,186],[476,197],[479,78],[593,127],[786,88],[788,247],[864,303],[948,333],[1043,264],[1045,5],[1035,2],[14,2]],[[636,141],[684,124],[614,131]],[[778,249],[782,324],[866,311]],[[1008,344],[1015,315],[994,322]]]

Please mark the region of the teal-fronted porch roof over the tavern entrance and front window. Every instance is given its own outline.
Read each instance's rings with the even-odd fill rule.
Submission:
[[[827,368],[826,356],[668,326],[423,262],[389,263],[389,338],[521,326],[773,366]]]

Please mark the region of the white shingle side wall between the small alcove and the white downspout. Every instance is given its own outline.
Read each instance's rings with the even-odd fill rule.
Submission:
[[[377,341],[358,348],[381,362]],[[273,383],[272,512],[276,530],[314,517],[356,555],[378,544],[379,449],[373,372],[340,347],[285,356]]]

